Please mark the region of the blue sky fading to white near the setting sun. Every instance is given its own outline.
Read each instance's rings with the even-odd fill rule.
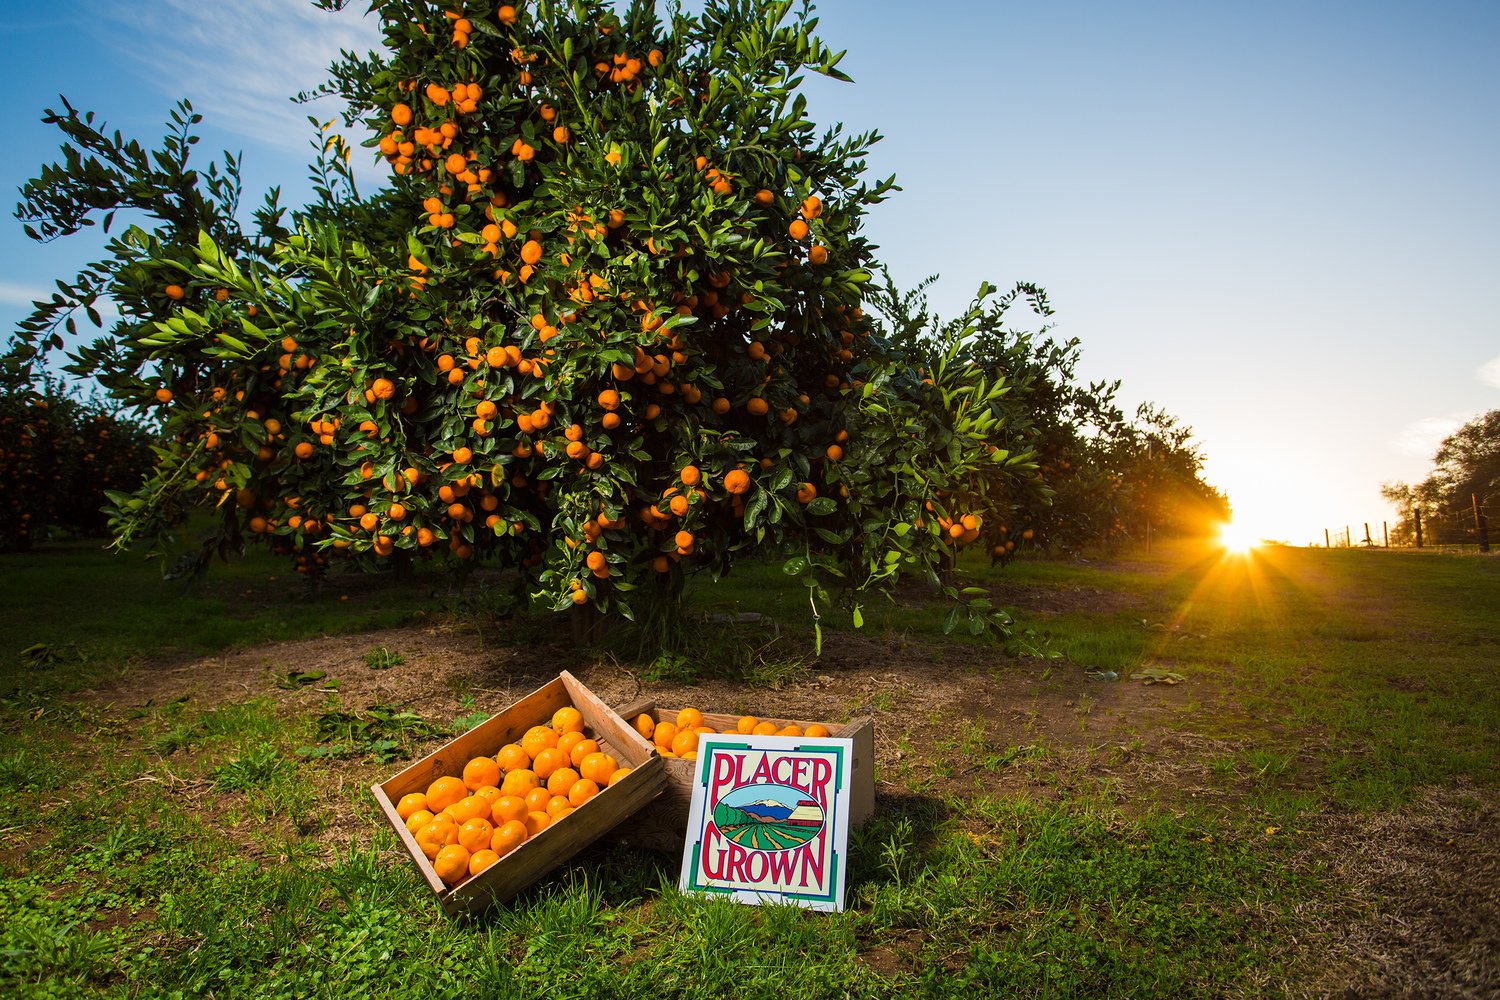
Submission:
[[[84,0],[0,24],[15,189],[57,139],[58,93],[204,153],[246,154],[248,202],[297,199],[309,130],[285,97],[375,33],[360,4]],[[1500,6],[826,0],[854,85],[814,120],[885,135],[870,217],[903,285],[945,313],[981,280],[1035,280],[1084,378],[1191,424],[1209,480],[1262,534],[1360,534],[1444,432],[1500,406]],[[374,177],[374,172],[370,174]],[[81,237],[80,237],[81,238]],[[0,324],[94,246],[0,225]]]

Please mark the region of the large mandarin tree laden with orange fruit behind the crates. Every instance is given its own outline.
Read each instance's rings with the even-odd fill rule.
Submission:
[[[754,550],[816,598],[972,541],[1028,456],[962,336],[920,372],[864,313],[892,181],[864,180],[876,135],[807,115],[802,73],[842,78],[810,7],[370,10],[386,51],[322,93],[380,192],[330,181],[268,249],[123,241],[160,294],[122,310],[116,385],[170,388],[171,432],[123,540],[218,504],[320,559],[495,559],[624,615]],[[350,153],[322,139],[322,175]]]

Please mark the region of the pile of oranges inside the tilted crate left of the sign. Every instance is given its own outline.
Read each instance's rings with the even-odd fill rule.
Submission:
[[[474,757],[462,775],[404,795],[396,814],[448,886],[477,876],[530,837],[630,774],[584,732],[572,705],[532,726],[519,744]]]

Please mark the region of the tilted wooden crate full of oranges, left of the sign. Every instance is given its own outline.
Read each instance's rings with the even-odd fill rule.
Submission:
[[[639,811],[663,763],[562,672],[370,792],[442,909],[476,913]]]

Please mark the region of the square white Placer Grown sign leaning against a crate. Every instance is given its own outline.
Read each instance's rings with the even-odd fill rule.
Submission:
[[[682,892],[843,910],[854,742],[705,735]]]

